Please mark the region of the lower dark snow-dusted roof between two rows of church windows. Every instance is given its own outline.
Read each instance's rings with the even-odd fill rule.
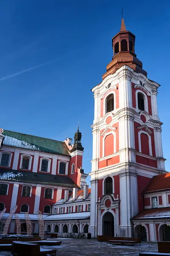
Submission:
[[[0,180],[20,181],[27,183],[46,184],[54,186],[65,186],[69,188],[78,187],[70,177],[62,175],[49,175],[40,172],[16,171],[0,168]]]

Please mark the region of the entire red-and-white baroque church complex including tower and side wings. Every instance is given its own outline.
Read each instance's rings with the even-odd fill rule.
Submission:
[[[79,128],[64,142],[0,131],[0,212],[3,223],[17,205],[22,232],[37,210],[48,233],[141,236],[170,240],[170,175],[164,168],[157,92],[136,58],[135,35],[112,38],[113,58],[94,93],[91,189],[82,169]],[[16,232],[14,215],[9,229]]]

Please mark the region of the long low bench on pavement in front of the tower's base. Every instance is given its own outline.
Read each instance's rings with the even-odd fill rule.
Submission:
[[[106,240],[107,244],[140,244],[141,238],[139,237],[112,237],[111,239]]]

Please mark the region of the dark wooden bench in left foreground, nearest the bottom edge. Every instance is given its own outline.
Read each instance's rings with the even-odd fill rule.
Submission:
[[[12,242],[12,255],[17,256],[44,256],[44,255],[56,255],[57,250],[49,250],[40,248],[39,244],[26,243],[22,241]]]

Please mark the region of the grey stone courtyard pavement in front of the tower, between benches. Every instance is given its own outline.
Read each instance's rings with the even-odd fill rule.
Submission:
[[[59,246],[42,246],[57,249],[56,256],[139,256],[140,252],[158,252],[157,243],[143,242],[140,245],[110,245],[96,239],[49,239],[62,241]],[[11,256],[10,252],[0,252],[0,256]]]

